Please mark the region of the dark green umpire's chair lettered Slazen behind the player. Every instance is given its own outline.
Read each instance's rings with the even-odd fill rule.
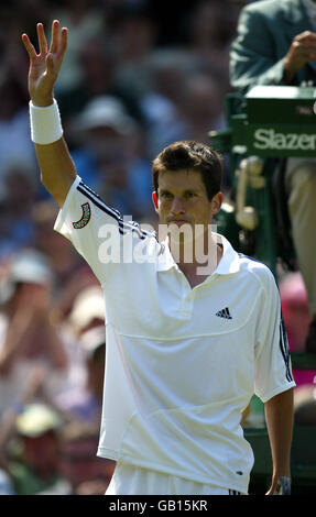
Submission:
[[[295,271],[284,174],[290,156],[315,157],[315,88],[257,86],[226,97],[227,129],[209,132],[210,146],[227,157],[229,197],[217,218],[219,233],[240,253]],[[291,353],[293,369],[316,370],[316,354]],[[316,385],[315,385],[316,388]],[[253,397],[254,411],[262,403]],[[264,417],[263,417],[264,419]],[[264,493],[272,472],[265,425],[246,427],[254,451],[250,493]],[[315,493],[316,427],[294,426],[292,493]]]

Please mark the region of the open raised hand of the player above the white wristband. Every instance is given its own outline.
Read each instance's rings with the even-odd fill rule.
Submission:
[[[37,23],[40,54],[31,43],[28,34],[22,34],[22,42],[29,53],[29,92],[35,106],[50,106],[54,98],[54,84],[57,79],[67,48],[67,29],[59,31],[58,20],[52,23],[52,41],[48,48],[42,23]],[[61,33],[59,33],[61,32]]]

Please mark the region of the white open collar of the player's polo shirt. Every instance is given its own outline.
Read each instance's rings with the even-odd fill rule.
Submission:
[[[231,273],[237,273],[239,271],[239,256],[238,253],[233,250],[230,242],[219,233],[213,233],[217,242],[222,245],[222,256],[214,271],[214,274],[218,275],[229,275]],[[157,256],[156,270],[157,271],[167,271],[172,267],[178,268],[175,263],[168,246],[167,238],[161,242],[161,250]]]

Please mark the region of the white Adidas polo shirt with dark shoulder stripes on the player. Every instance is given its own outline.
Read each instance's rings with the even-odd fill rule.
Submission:
[[[109,228],[133,260],[105,263]],[[167,245],[123,222],[79,177],[55,230],[105,293],[98,455],[247,493],[253,454],[241,414],[253,393],[266,402],[295,386],[270,270],[218,235],[222,257],[192,288]]]

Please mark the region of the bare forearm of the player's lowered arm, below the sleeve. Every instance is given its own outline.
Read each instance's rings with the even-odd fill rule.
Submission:
[[[282,475],[291,475],[293,388],[268,400],[264,410],[273,461],[273,480],[276,481]]]

